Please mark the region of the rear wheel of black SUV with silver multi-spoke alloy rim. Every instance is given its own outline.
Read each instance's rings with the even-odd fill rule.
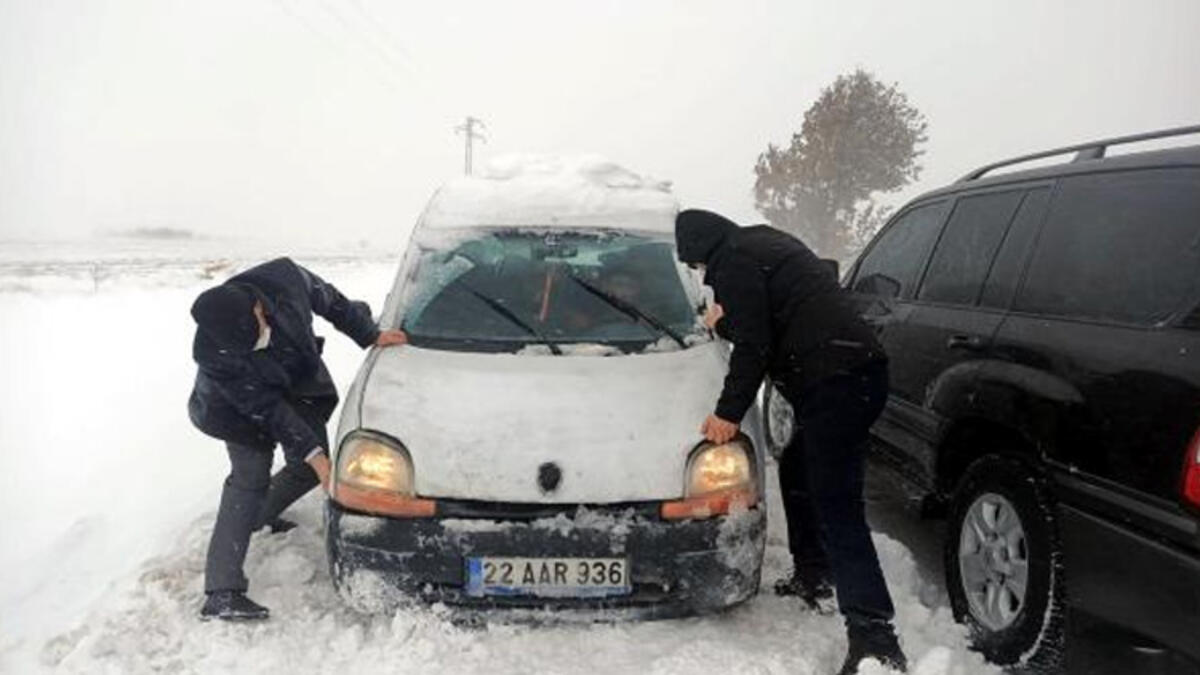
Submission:
[[[946,577],[954,616],[1002,665],[1062,664],[1063,569],[1045,480],[1015,459],[972,464],[954,492]]]

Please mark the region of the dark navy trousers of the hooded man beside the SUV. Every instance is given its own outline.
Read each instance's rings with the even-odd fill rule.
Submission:
[[[797,419],[779,462],[796,572],[808,581],[832,581],[847,623],[890,620],[895,610],[863,508],[868,431],[887,401],[887,363],[800,392],[787,378],[779,387]]]

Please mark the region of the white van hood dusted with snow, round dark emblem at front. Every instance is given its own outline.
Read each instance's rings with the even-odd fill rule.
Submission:
[[[540,503],[678,498],[726,370],[715,342],[614,357],[383,350],[360,429],[404,443],[420,496]],[[342,432],[349,429],[343,426]],[[562,470],[542,494],[538,470]]]

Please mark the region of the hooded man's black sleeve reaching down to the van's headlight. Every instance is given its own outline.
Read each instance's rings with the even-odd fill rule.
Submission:
[[[733,344],[733,353],[716,402],[716,417],[740,423],[758,395],[770,362],[770,304],[767,280],[757,264],[734,258],[722,267],[713,286],[716,301],[725,309],[716,333]]]

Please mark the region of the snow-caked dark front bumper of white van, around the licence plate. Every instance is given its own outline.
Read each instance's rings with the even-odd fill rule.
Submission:
[[[764,545],[762,506],[731,515],[668,521],[653,504],[552,507],[528,516],[394,519],[328,501],[325,543],[342,597],[365,611],[409,603],[534,613],[580,610],[598,619],[704,614],[758,591]],[[467,509],[463,509],[467,510]],[[468,595],[467,558],[625,557],[631,590],[610,597]]]

